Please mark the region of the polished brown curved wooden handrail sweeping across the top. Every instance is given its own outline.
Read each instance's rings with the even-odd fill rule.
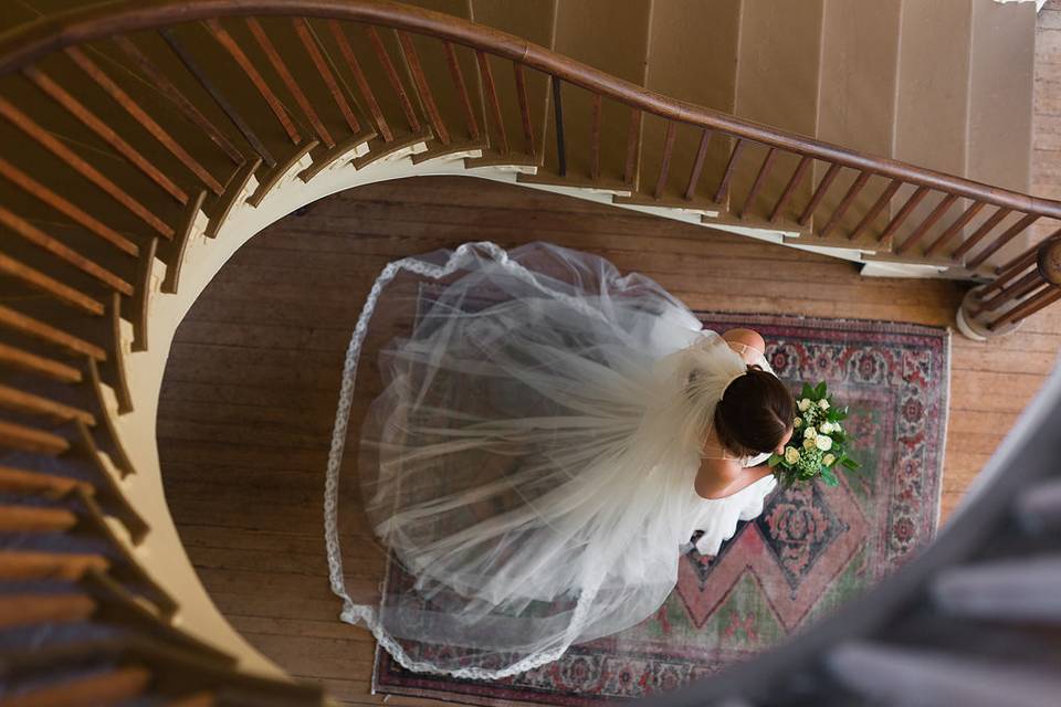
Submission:
[[[557,54],[524,39],[431,10],[388,0],[116,0],[31,22],[0,35],[0,75],[73,44],[118,33],[210,18],[246,15],[316,17],[391,27],[490,52],[551,74],[628,106],[738,138],[906,183],[957,194],[1029,214],[1061,219],[1061,202],[999,189],[884,157],[847,149],[796,133],[736,118],[648,91]]]

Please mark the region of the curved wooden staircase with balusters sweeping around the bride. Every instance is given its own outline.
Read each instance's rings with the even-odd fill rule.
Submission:
[[[866,275],[967,279],[958,323],[975,337],[1061,299],[1061,203],[1021,192],[1027,131],[1000,131],[983,148],[995,152],[965,147],[970,130],[1020,119],[1006,81],[969,80],[965,105],[983,95],[984,109],[970,120],[967,107],[962,138],[942,146],[918,143],[926,116],[897,99],[875,133],[834,118],[864,106],[864,86],[822,78],[833,62],[884,52],[895,93],[925,59],[938,36],[918,3],[872,3],[868,20],[786,3],[781,22],[753,0],[719,4],[684,43],[664,30],[703,3],[418,4],[433,10],[114,0],[0,35],[0,706],[328,700],[217,612],[166,508],[155,442],[185,314],[243,243],[326,194],[464,175],[815,250]],[[1005,34],[1000,8],[954,4],[966,14],[935,19],[968,45]],[[1006,22],[1033,28],[1030,8],[1013,12]],[[638,27],[640,40],[623,34]],[[906,64],[907,44],[881,40],[901,27],[920,36]],[[813,38],[810,107],[771,115],[801,91],[778,66]],[[777,64],[757,63],[756,45]],[[704,81],[681,76],[690,56]],[[927,101],[938,85],[922,89]],[[941,171],[895,159],[911,155]],[[977,181],[992,175],[1001,186]],[[788,645],[656,699],[1055,704],[1059,421],[1055,374],[918,560]]]

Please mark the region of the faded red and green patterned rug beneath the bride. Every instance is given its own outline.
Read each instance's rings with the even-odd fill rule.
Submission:
[[[838,487],[775,492],[763,515],[742,524],[718,555],[690,550],[659,612],[621,634],[495,683],[409,673],[380,651],[377,692],[580,706],[672,689],[769,648],[932,539],[946,432],[947,330],[761,315],[701,318],[711,329],[760,331],[770,365],[794,390],[802,381],[828,381],[834,399],[851,407],[848,430],[863,468],[843,475]]]

